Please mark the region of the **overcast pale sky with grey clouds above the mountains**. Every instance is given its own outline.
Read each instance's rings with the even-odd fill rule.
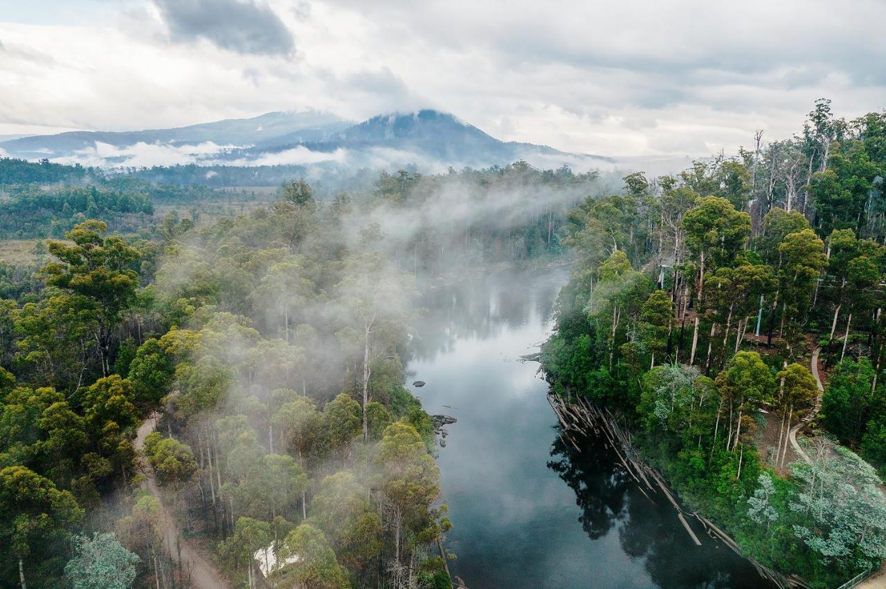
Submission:
[[[0,134],[430,107],[505,140],[707,155],[886,107],[886,2],[0,0]]]

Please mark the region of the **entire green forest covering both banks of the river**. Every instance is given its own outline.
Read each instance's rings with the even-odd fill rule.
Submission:
[[[556,392],[774,570],[886,557],[882,113],[820,101],[615,191],[524,162],[260,195],[136,172],[0,159],[0,231],[40,238],[0,263],[0,584],[187,586],[196,549],[218,584],[451,586],[418,295],[564,260]]]

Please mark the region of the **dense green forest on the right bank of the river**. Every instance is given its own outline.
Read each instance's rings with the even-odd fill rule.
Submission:
[[[827,100],[789,140],[626,176],[567,216],[542,353],[690,510],[816,587],[886,557],[884,176],[886,115]]]

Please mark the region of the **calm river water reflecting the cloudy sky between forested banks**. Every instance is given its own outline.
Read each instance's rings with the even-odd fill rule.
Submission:
[[[425,409],[458,419],[439,450],[453,574],[471,589],[763,586],[726,547],[692,544],[601,444],[560,442],[539,364],[518,356],[547,337],[567,279],[501,273],[426,295],[409,369]]]

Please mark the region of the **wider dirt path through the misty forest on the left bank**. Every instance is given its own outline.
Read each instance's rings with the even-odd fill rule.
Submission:
[[[136,433],[136,450],[139,453],[144,448],[144,439],[157,427],[157,414],[154,413],[144,420]],[[144,461],[144,459],[142,459]],[[154,471],[147,461],[143,462],[146,478],[144,486],[160,500],[160,509],[163,510],[163,548],[167,555],[175,562],[181,564],[183,577],[190,578],[190,585],[196,589],[230,589],[231,585],[221,577],[212,562],[206,559],[193,547],[187,539],[183,539],[175,525],[175,517],[163,502],[157,481],[154,479]]]

